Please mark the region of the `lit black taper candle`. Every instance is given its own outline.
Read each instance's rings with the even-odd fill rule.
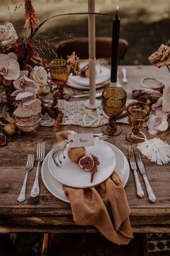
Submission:
[[[112,64],[111,64],[111,82],[117,82],[117,64],[119,57],[120,40],[120,17],[116,11],[115,19],[112,21]]]

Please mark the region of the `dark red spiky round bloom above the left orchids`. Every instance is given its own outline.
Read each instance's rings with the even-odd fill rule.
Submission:
[[[32,39],[19,38],[14,44],[14,52],[17,54],[20,67],[23,69],[32,57],[37,56],[37,47]]]

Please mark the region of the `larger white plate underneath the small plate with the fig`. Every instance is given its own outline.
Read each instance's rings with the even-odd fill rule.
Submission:
[[[119,174],[120,179],[122,180],[122,184],[125,187],[125,184],[128,182],[130,168],[129,163],[125,155],[122,153],[122,151],[115,147],[115,145],[110,144],[109,142],[105,142],[107,145],[109,145],[110,148],[114,151],[116,155],[116,166],[115,171],[117,174]],[[66,197],[65,193],[63,192],[63,184],[58,182],[56,179],[53,178],[53,176],[50,174],[50,171],[48,169],[48,158],[49,158],[50,152],[48,155],[46,155],[45,160],[42,163],[41,168],[41,176],[42,176],[42,182],[45,184],[45,187],[48,189],[48,191],[57,197],[58,199],[69,202],[68,198]]]

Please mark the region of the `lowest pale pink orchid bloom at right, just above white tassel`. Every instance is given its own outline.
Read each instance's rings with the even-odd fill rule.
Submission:
[[[152,114],[149,120],[148,132],[155,135],[157,132],[166,131],[169,127],[167,118],[168,115],[161,108],[156,109],[155,114]]]

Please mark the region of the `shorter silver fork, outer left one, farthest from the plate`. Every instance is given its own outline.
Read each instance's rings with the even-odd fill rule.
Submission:
[[[26,165],[27,172],[24,176],[24,182],[23,182],[23,185],[22,185],[22,189],[21,189],[21,191],[19,193],[19,196],[17,198],[18,202],[23,202],[25,200],[25,192],[26,192],[26,186],[27,186],[27,176],[28,176],[29,171],[32,170],[33,166],[34,166],[34,153],[30,153],[27,156],[27,165]]]

